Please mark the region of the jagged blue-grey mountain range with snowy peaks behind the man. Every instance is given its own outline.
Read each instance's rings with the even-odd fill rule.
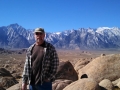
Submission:
[[[61,49],[120,48],[120,28],[79,28],[56,33],[46,32],[45,40]],[[26,30],[17,23],[0,27],[1,48],[28,48],[34,42],[33,30]]]

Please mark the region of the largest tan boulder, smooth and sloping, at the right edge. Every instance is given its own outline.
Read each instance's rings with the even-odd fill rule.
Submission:
[[[79,71],[79,79],[83,74],[97,82],[103,79],[114,81],[120,78],[120,54],[100,56]]]

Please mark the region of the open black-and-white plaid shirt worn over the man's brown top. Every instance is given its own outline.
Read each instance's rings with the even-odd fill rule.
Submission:
[[[23,83],[30,83],[31,81],[31,55],[32,49],[35,44],[31,45],[26,54],[26,61],[23,70]],[[54,46],[45,41],[45,48],[44,48],[44,57],[42,61],[42,70],[41,70],[41,84],[43,80],[48,79],[53,81],[55,79],[55,74],[57,71],[57,67],[59,65],[59,59],[57,52]]]

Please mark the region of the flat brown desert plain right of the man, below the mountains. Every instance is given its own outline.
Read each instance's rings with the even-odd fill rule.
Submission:
[[[57,50],[60,61],[70,61],[73,65],[80,59],[93,60],[102,54],[119,54],[120,50]]]

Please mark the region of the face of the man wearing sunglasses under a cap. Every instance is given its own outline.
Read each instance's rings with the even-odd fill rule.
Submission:
[[[42,44],[44,41],[45,33],[35,32],[34,33],[36,43]]]

